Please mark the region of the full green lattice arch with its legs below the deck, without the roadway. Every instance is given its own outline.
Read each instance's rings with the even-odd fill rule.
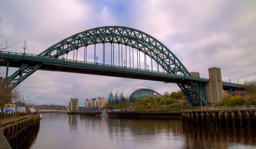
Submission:
[[[167,73],[191,76],[181,61],[165,45],[151,35],[130,27],[105,26],[89,29],[52,45],[37,56],[54,59],[80,47],[99,43],[117,43],[130,46],[151,57]],[[40,66],[39,64],[30,66],[29,63],[22,65],[14,74],[5,79],[10,82],[10,89],[22,82]],[[202,88],[198,86],[198,82],[178,84],[178,86],[191,104],[196,105],[198,103],[197,97],[202,95]],[[206,96],[203,96],[202,99],[204,104],[207,105]]]

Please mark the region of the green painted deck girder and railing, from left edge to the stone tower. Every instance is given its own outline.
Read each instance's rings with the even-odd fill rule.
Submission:
[[[109,65],[109,64],[102,64],[102,63],[93,63],[93,62],[85,62],[85,61],[76,61],[71,59],[63,59],[63,58],[50,58],[50,57],[38,57],[34,54],[28,53],[13,53],[13,52],[4,52],[1,51],[1,56],[4,59],[14,59],[16,61],[31,61],[36,63],[51,63],[51,64],[58,64],[58,65],[69,65],[71,67],[91,67],[92,69],[105,69],[111,71],[123,71],[127,73],[137,73],[137,74],[149,74],[154,76],[166,76],[171,78],[177,78],[180,80],[191,80],[191,81],[199,81],[199,82],[209,82],[207,78],[198,78],[194,76],[183,76],[180,74],[169,74],[163,73],[161,71],[151,71],[145,69],[137,69],[132,67],[122,67],[117,65]],[[42,65],[42,64],[41,64]],[[22,66],[23,67],[23,66]],[[9,76],[10,77],[10,76]]]

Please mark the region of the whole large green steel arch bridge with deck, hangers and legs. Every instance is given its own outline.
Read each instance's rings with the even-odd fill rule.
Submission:
[[[78,55],[79,53],[79,55]],[[12,90],[37,70],[95,74],[176,83],[189,102],[207,105],[209,79],[191,76],[163,43],[123,26],[97,27],[72,35],[38,55],[0,51],[6,67],[6,89]],[[8,76],[8,68],[18,68]],[[224,89],[241,84],[222,82]]]

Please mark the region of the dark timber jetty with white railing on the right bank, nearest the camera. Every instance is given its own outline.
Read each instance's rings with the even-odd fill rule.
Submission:
[[[185,125],[212,127],[255,127],[256,106],[203,107],[182,112]]]

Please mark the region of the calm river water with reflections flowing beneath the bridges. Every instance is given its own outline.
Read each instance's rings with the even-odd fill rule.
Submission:
[[[185,127],[180,120],[43,114],[20,148],[183,149],[256,148],[256,130]]]

